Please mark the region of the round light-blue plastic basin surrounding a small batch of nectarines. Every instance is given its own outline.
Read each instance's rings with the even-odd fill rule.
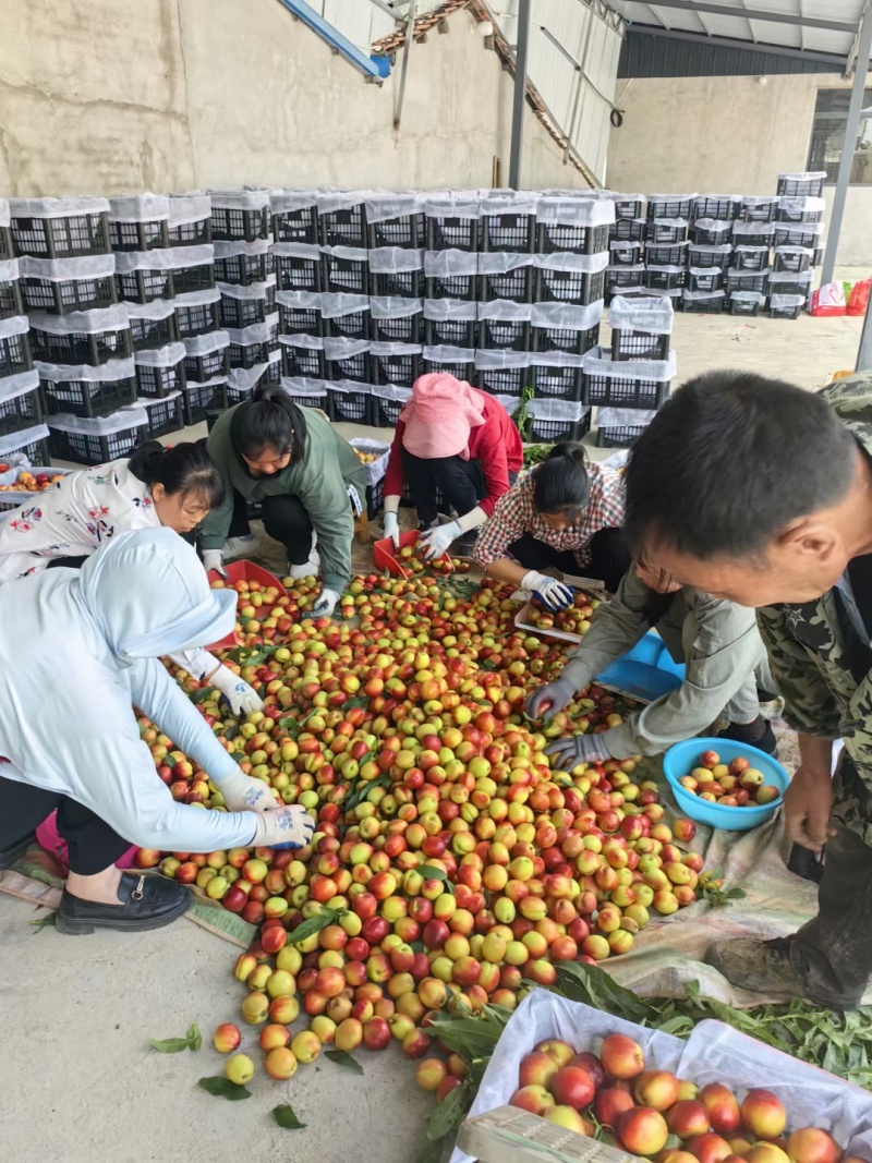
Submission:
[[[701,800],[679,784],[681,776],[689,776],[694,768],[700,765],[700,756],[703,751],[716,751],[722,763],[730,763],[743,756],[749,759],[751,766],[757,768],[765,776],[767,784],[774,784],[781,794],[771,804],[762,804],[759,807],[723,807],[709,800]],[[781,806],[784,792],[791,782],[789,776],[781,764],[756,747],[746,743],[735,743],[730,739],[687,739],[682,743],[676,743],[663,757],[663,773],[669,780],[676,802],[681,811],[698,823],[707,823],[710,828],[722,828],[724,832],[748,832],[765,823],[775,809]]]

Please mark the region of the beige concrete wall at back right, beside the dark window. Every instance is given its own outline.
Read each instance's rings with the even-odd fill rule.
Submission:
[[[872,85],[872,74],[870,79]],[[819,88],[838,73],[656,77],[619,81],[624,123],[612,130],[607,185],[641,193],[774,193],[808,162]],[[832,187],[824,188],[828,209]],[[839,266],[872,265],[872,186],[851,186]]]

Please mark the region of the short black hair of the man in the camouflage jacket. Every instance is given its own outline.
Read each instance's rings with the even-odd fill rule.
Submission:
[[[755,372],[696,376],[630,454],[634,558],[669,545],[699,561],[759,557],[800,516],[841,500],[857,444],[825,397]]]

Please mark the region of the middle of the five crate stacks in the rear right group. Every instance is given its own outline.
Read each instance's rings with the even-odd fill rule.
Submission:
[[[753,269],[741,266],[735,256],[734,230],[741,213],[738,195],[698,194],[693,199],[682,311],[720,314],[728,302],[727,285],[734,271]]]

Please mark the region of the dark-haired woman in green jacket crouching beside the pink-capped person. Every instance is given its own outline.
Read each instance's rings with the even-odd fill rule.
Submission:
[[[219,418],[208,451],[228,488],[202,525],[206,569],[223,568],[227,538],[249,531],[245,502],[260,501],[264,528],[285,545],[291,577],[316,572],[320,557],[323,588],[313,614],[329,618],[351,577],[355,516],[365,504],[355,450],[322,412],[270,386]]]

